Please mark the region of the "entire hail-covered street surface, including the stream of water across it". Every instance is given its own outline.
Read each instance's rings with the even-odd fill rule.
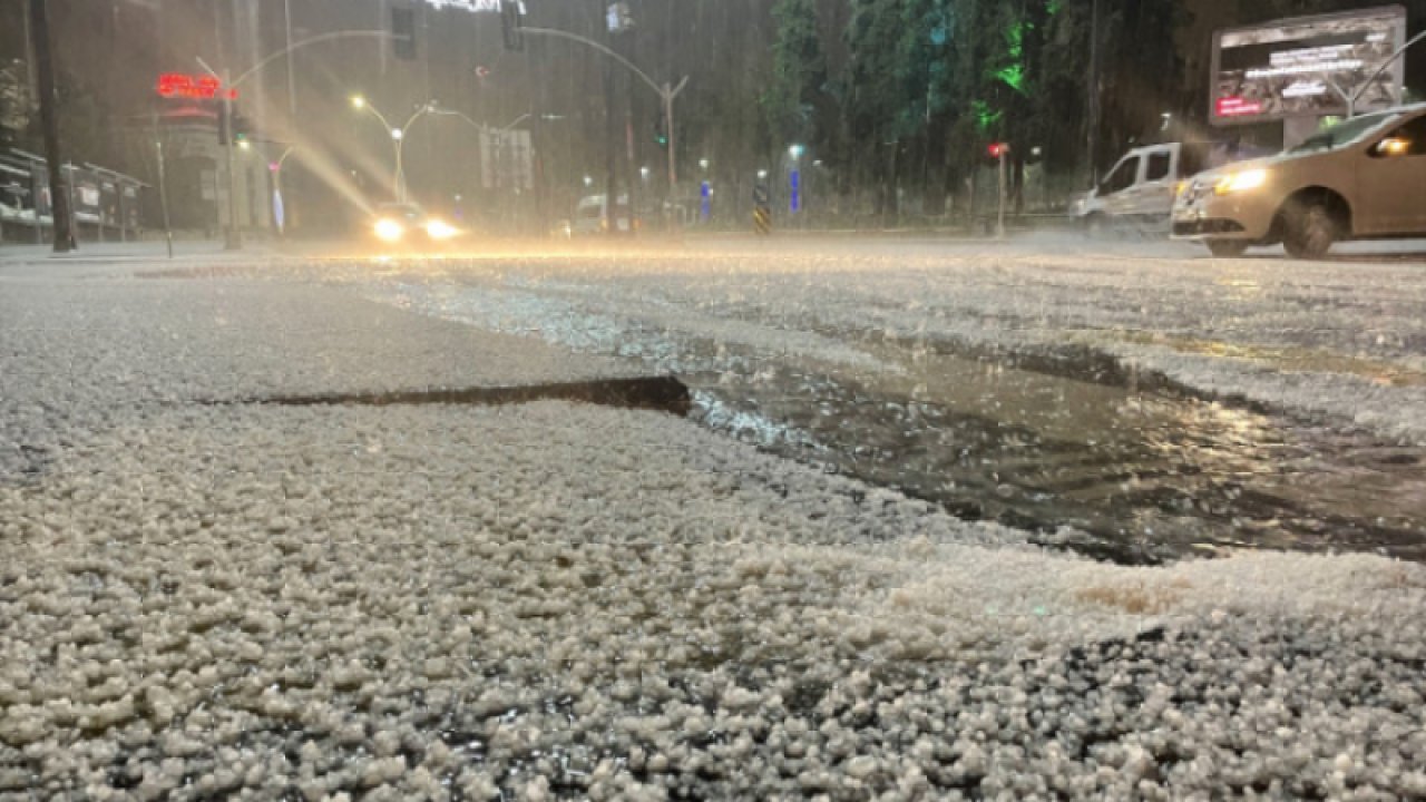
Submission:
[[[0,799],[1426,795],[1426,270],[1141,248],[0,264]]]

